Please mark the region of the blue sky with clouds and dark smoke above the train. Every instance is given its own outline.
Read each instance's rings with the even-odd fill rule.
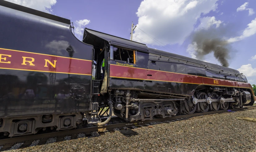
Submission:
[[[68,18],[84,28],[130,39],[243,73],[256,84],[255,0],[7,0]],[[206,46],[209,49],[206,50]]]

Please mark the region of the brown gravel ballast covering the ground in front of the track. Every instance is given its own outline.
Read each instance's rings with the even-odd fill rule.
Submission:
[[[256,108],[139,127],[133,129],[139,134],[131,137],[119,131],[95,133],[97,137],[8,151],[255,151],[256,123],[237,117],[256,118]]]

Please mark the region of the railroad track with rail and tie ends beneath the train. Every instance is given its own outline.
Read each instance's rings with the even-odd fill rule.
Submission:
[[[254,108],[256,106],[247,106],[243,108],[236,108],[236,109],[228,109],[232,111],[238,111],[238,110],[244,110],[249,108]],[[71,139],[77,139],[78,134],[85,134],[86,137],[90,137],[92,132],[98,132],[99,134],[104,134],[104,130],[108,130],[110,132],[114,132],[115,128],[123,129],[124,127],[132,128],[132,126],[147,126],[146,124],[153,123],[153,122],[164,122],[166,121],[180,121],[180,120],[187,120],[192,117],[196,116],[205,116],[210,114],[216,114],[216,113],[225,113],[228,112],[228,110],[218,110],[218,111],[211,111],[206,113],[194,113],[194,114],[187,114],[187,115],[178,115],[173,117],[167,117],[167,118],[159,118],[159,119],[153,119],[153,120],[145,120],[145,121],[134,121],[134,122],[123,122],[119,117],[113,117],[111,119],[111,122],[121,121],[120,123],[116,124],[110,124],[105,126],[93,126],[88,127],[85,125],[84,128],[80,129],[73,129],[68,131],[56,131],[51,133],[42,133],[42,134],[35,134],[30,136],[22,136],[22,137],[12,137],[12,138],[5,138],[0,139],[0,151],[9,150],[12,146],[14,146],[16,143],[23,143],[19,148],[25,148],[32,144],[35,140],[40,140],[37,145],[44,145],[47,142],[47,139],[49,138],[56,138],[56,142],[61,142],[64,140],[65,136],[71,136]],[[156,123],[158,124],[158,123]]]

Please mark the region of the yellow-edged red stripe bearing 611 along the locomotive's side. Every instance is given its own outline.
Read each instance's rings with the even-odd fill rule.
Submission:
[[[134,68],[120,65],[110,65],[110,77],[141,79],[141,80],[156,80],[156,81],[169,81],[169,82],[181,82],[191,84],[209,84],[215,86],[230,86],[250,88],[252,86],[249,83],[213,79],[202,76],[192,76],[187,74],[172,73],[165,71],[156,71],[143,68]]]

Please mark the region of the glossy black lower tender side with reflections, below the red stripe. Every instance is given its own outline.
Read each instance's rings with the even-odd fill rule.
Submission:
[[[14,70],[4,70],[10,73]],[[2,73],[3,71],[1,71]],[[22,71],[18,76],[0,74],[0,116],[84,111],[89,108],[89,93],[80,101],[69,97],[71,86],[80,84],[90,92],[90,76]]]

